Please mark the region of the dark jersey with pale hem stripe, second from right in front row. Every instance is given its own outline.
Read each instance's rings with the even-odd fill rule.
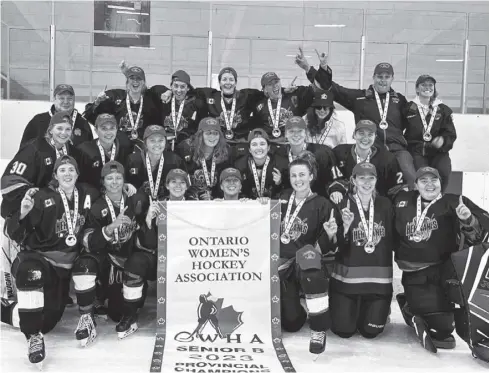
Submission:
[[[343,224],[338,229],[338,253],[331,275],[331,289],[346,294],[392,293],[392,248],[394,246],[393,211],[389,199],[377,196],[374,200],[374,224],[372,242],[375,249],[365,247],[368,237],[360,213],[352,195],[344,198],[338,206],[341,211],[350,201],[353,222],[344,235]],[[369,212],[364,210],[369,221]],[[341,215],[336,219],[341,222]],[[368,224],[368,223],[367,223]],[[367,252],[369,251],[369,252]]]

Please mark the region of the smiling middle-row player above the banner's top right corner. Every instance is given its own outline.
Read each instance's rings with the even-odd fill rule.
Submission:
[[[247,198],[276,198],[283,188],[287,176],[288,161],[270,152],[268,135],[261,128],[248,135],[249,154],[235,162],[243,175],[243,194]]]

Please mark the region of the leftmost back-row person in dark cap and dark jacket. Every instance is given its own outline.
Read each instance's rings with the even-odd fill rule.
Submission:
[[[20,140],[20,147],[30,140],[43,138],[49,127],[51,117],[60,111],[67,112],[71,117],[73,123],[71,142],[75,147],[93,139],[90,124],[75,109],[75,90],[73,87],[68,84],[58,84],[54,88],[53,96],[53,105],[49,111],[35,115],[27,123],[22,140]]]

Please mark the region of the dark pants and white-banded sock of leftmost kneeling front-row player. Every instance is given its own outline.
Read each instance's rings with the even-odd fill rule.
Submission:
[[[12,264],[17,286],[20,330],[28,338],[48,333],[61,320],[70,274],[55,268],[36,251],[21,251]]]

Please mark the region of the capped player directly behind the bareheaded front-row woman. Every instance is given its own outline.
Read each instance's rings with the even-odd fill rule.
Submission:
[[[311,152],[316,158],[318,167],[313,191],[327,198],[327,185],[331,184],[334,179],[335,156],[331,148],[326,145],[306,143],[306,131],[307,127],[304,119],[301,117],[289,118],[285,124],[285,138],[288,145],[281,145],[276,150],[276,154],[287,158],[290,164],[303,151]],[[288,180],[285,181],[285,187],[290,187]]]

